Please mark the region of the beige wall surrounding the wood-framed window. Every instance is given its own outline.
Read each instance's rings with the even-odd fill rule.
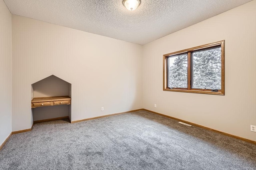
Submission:
[[[144,45],[143,107],[256,141],[255,9],[256,0]],[[162,90],[162,55],[220,40],[225,96]]]

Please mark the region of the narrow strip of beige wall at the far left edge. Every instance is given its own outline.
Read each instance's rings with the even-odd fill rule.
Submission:
[[[0,145],[12,132],[12,15],[0,0]]]

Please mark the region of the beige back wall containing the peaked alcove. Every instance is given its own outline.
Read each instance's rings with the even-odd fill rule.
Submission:
[[[12,130],[31,127],[31,84],[72,84],[72,121],[142,108],[142,46],[12,15]],[[104,107],[104,111],[101,111]]]

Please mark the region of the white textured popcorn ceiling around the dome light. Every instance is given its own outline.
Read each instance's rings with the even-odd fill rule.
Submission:
[[[146,44],[251,0],[4,0],[12,14]]]

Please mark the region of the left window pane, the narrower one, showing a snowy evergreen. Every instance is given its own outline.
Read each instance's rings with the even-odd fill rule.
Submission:
[[[188,55],[168,57],[168,87],[188,88]]]

